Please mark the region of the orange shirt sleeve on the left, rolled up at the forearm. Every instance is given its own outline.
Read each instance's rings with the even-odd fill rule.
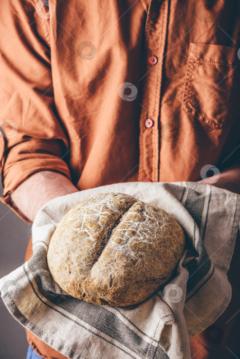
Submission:
[[[0,200],[26,222],[11,202],[17,186],[44,170],[70,179],[62,159],[69,139],[54,104],[47,15],[36,4],[8,0],[0,13]]]

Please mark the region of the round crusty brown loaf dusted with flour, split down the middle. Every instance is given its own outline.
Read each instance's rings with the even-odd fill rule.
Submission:
[[[164,210],[122,193],[99,194],[68,211],[47,253],[54,281],[94,304],[141,303],[167,283],[184,233]]]

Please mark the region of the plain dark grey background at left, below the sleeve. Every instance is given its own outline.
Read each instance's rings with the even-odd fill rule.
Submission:
[[[3,195],[2,182],[0,183],[0,195]],[[0,201],[1,278],[24,263],[26,248],[31,236],[30,229],[30,224],[21,220]],[[1,297],[0,318],[0,358],[25,359],[28,347],[25,329],[9,313]]]

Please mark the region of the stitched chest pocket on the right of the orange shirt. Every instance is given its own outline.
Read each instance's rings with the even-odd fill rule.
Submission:
[[[190,43],[181,108],[214,129],[224,128],[239,115],[237,50]]]

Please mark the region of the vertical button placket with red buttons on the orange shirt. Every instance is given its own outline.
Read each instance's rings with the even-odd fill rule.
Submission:
[[[153,182],[159,181],[158,117],[163,54],[168,25],[168,3],[169,0],[163,0],[161,4],[152,1],[145,25],[143,70],[140,79],[142,82],[142,108],[139,136],[139,181],[145,181],[145,178],[151,178]],[[148,157],[147,161],[146,157]]]

